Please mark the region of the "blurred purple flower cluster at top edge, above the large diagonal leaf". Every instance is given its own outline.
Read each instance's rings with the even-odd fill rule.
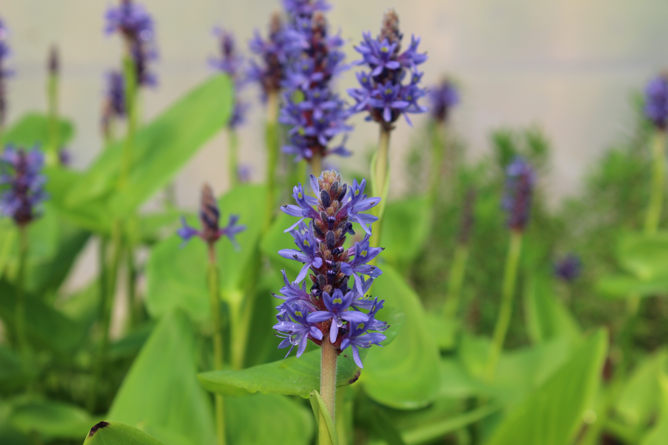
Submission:
[[[148,71],[148,62],[158,57],[155,47],[153,19],[142,5],[122,0],[105,14],[106,33],[120,32],[126,39],[134,62],[138,85],[155,85],[156,76]]]

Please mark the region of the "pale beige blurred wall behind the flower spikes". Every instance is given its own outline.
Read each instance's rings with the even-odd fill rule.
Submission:
[[[213,25],[229,27],[242,50],[255,27],[265,31],[278,0],[148,0],[156,19],[159,85],[145,93],[144,117],[160,110],[210,74],[216,51]],[[377,33],[383,11],[395,7],[401,29],[422,36],[430,59],[423,65],[427,84],[444,73],[462,85],[462,105],[454,126],[472,156],[489,150],[490,129],[538,123],[554,142],[553,167],[546,185],[555,195],[574,193],[582,173],[605,147],[631,129],[629,97],[667,65],[668,2],[535,0],[332,0],[329,21],[352,45],[361,32]],[[120,41],[102,33],[109,2],[98,0],[3,0],[0,16],[9,25],[13,48],[9,81],[9,121],[45,107],[45,55],[57,43],[63,56],[61,109],[77,126],[71,149],[75,165],[87,165],[100,150],[98,131],[103,73],[118,66]],[[247,51],[246,51],[247,52]],[[339,89],[354,83],[349,71]],[[257,90],[248,124],[240,132],[241,159],[264,170],[262,107]],[[375,143],[377,128],[353,119],[349,148],[360,153]],[[424,124],[415,117],[415,127]],[[393,178],[401,178],[403,153],[411,132],[400,122],[391,147]],[[217,191],[227,185],[225,138],[217,137],[180,173],[178,201],[192,206],[204,180]],[[362,157],[359,155],[359,157]],[[354,162],[355,157],[349,161]],[[393,183],[401,193],[403,181]]]

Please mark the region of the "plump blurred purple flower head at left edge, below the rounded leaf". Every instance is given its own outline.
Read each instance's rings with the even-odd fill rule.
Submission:
[[[44,156],[8,145],[0,155],[0,213],[25,226],[39,215],[37,206],[46,197],[41,174]]]

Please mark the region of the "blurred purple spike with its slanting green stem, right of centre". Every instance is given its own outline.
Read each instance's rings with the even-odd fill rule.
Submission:
[[[531,199],[536,176],[532,167],[521,157],[516,157],[506,167],[506,190],[502,206],[508,212],[508,226],[510,227],[510,246],[501,289],[501,306],[499,309],[492,344],[487,358],[485,378],[491,382],[496,374],[510,318],[512,316],[512,301],[515,293],[517,266],[522,252],[522,234],[529,220]]]

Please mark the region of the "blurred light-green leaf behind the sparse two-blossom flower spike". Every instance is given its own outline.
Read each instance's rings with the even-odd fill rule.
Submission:
[[[242,278],[246,271],[250,270],[254,276],[246,281],[257,280],[259,258],[256,246],[263,221],[264,193],[262,185],[240,185],[219,200],[221,225],[226,224],[228,215],[239,215],[239,224],[246,226],[246,230],[236,236],[239,252],[226,238],[216,243],[224,298],[238,300],[242,297],[242,286],[246,285]],[[200,221],[194,217],[188,218],[188,222],[194,227],[200,226]],[[207,320],[210,316],[207,264],[206,244],[198,238],[184,243],[174,234],[154,246],[147,266],[146,306],[150,314],[159,317],[172,308],[182,308],[197,322]]]

